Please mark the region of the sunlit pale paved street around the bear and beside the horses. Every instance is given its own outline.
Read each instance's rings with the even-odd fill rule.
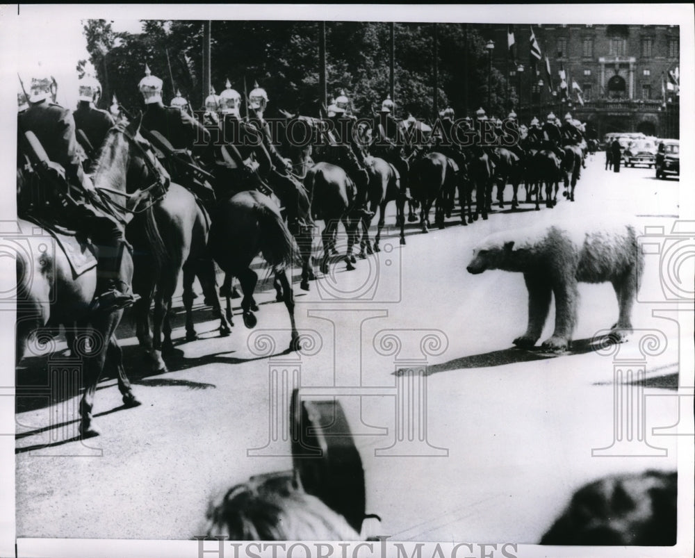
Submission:
[[[282,354],[288,316],[275,303],[265,270],[259,271],[258,326],[246,329],[237,307],[228,338],[218,336],[200,296],[201,338],[183,343],[177,293],[177,347],[165,374],[149,373],[133,330],[122,325],[126,372],[142,405],[123,409],[115,379],[102,381],[95,400],[101,436],[65,442],[76,432],[77,397],[50,407],[47,400],[18,397],[17,537],[201,534],[215,491],[291,468],[284,421],[293,370],[306,398],[340,394],[366,473],[367,511],[382,517],[379,534],[394,540],[534,543],[585,482],[675,468],[676,437],[651,430],[678,422],[678,325],[652,314],[669,307],[660,304],[658,254],[647,258],[632,318],[638,330],[655,331],[637,331],[614,354],[591,346],[596,332],[616,321],[610,284],[580,284],[575,345],[558,356],[511,348],[527,319],[521,274],[466,272],[477,241],[534,223],[621,211],[636,215],[642,227],[669,233],[679,215],[680,182],[657,180],[646,168],[614,174],[603,163],[601,153],[587,161],[575,203],[560,197],[557,207],[538,212],[530,204],[516,212],[507,206],[468,227],[455,213],[445,229],[429,234],[409,224],[404,247],[391,204],[382,252],[358,259],[353,272],[336,263],[309,293],[295,283],[297,327],[307,343],[300,355]],[[508,186],[507,201],[511,195]],[[344,251],[341,241],[338,247]],[[692,277],[692,270],[680,272]],[[553,316],[551,309],[541,340],[552,332]],[[692,327],[692,320],[682,322]],[[648,333],[659,350],[639,343]],[[692,339],[692,331],[680,334]],[[646,369],[644,393],[614,387],[621,359],[632,363],[630,370]],[[47,366],[32,359],[20,374],[38,385]],[[409,375],[413,368],[425,376]],[[639,420],[614,420],[616,389],[644,395],[639,417],[646,437],[631,430]],[[409,428],[419,428],[424,439],[409,436]],[[608,448],[623,434],[630,443],[598,452],[622,457],[592,457],[592,449]]]

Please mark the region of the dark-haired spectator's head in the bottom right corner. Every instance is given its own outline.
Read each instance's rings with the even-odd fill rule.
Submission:
[[[546,545],[669,546],[676,544],[677,473],[616,475],[579,489]]]

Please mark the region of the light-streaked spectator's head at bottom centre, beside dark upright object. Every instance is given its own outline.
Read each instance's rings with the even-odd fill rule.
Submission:
[[[291,473],[252,477],[211,502],[207,536],[233,541],[359,541],[343,516],[297,486]]]

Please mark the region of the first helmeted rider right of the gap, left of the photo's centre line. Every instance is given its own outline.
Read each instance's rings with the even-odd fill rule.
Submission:
[[[349,108],[350,99],[341,90],[341,94],[327,109],[329,120],[333,124],[333,131],[327,134],[331,142],[328,152],[333,154],[329,158],[347,173],[357,188],[352,215],[371,218],[374,213],[367,208],[369,175],[365,168],[363,145],[360,144],[354,127],[357,118],[348,115]]]

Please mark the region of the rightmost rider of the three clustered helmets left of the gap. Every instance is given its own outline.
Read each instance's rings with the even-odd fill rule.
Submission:
[[[263,142],[263,147],[270,155],[270,172],[264,176],[275,195],[279,197],[287,212],[287,227],[293,233],[309,227],[309,224],[300,217],[300,188],[304,188],[300,181],[292,174],[292,160],[279,154],[273,140],[270,126],[263,118],[265,108],[268,106],[268,93],[265,89],[254,83],[254,88],[249,94],[249,108],[253,111],[249,122],[256,128]]]

